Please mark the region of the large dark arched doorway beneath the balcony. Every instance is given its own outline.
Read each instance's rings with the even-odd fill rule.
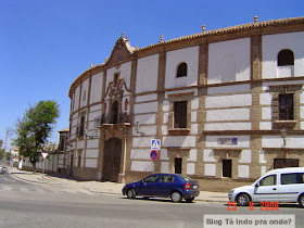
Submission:
[[[103,180],[118,181],[121,170],[121,156],[122,156],[122,140],[112,138],[104,143],[103,156]]]

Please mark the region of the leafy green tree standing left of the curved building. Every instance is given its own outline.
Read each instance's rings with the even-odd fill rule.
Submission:
[[[17,121],[13,143],[20,149],[20,155],[29,157],[33,173],[36,173],[36,163],[41,159],[58,117],[59,104],[55,101],[39,101]]]

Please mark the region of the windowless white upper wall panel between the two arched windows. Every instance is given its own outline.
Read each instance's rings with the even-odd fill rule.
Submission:
[[[250,80],[250,38],[208,46],[208,84]]]

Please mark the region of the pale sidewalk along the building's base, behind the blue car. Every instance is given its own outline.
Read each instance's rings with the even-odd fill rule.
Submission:
[[[116,182],[100,182],[100,181],[77,181],[67,179],[64,176],[52,176],[41,173],[33,174],[31,172],[20,170],[15,167],[9,167],[8,172],[16,179],[27,181],[35,185],[51,185],[53,187],[65,187],[77,191],[88,191],[92,193],[107,193],[107,194],[123,194],[122,189],[125,183]],[[195,198],[197,201],[203,202],[228,202],[228,193],[226,192],[208,192],[201,191],[200,195]]]

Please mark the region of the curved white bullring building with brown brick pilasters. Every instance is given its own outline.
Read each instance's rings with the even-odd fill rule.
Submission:
[[[67,173],[238,180],[304,166],[303,85],[304,17],[202,27],[143,48],[122,35],[71,86]]]

